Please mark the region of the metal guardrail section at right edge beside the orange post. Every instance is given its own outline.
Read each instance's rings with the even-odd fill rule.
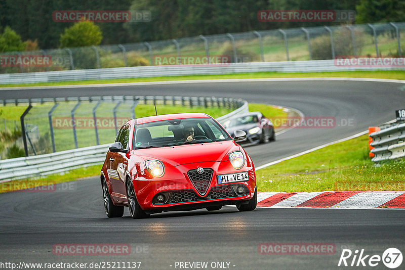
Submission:
[[[397,123],[391,127],[370,134],[373,142],[370,146],[375,157],[374,162],[400,159],[405,157],[405,123]]]

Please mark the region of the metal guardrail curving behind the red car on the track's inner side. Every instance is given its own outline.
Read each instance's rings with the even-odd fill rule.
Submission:
[[[161,98],[161,99],[160,99]],[[217,121],[223,123],[232,116],[240,113],[249,112],[248,102],[241,99],[227,98],[204,98],[204,97],[153,97],[152,100],[159,99],[163,102],[185,101],[188,100],[189,105],[206,104],[208,102],[221,102],[225,106],[236,105],[238,108],[226,115],[217,118]],[[149,98],[145,97],[146,100]],[[9,100],[13,103],[12,100]],[[0,160],[0,183],[11,181],[12,179],[23,179],[34,176],[45,176],[52,173],[68,171],[78,167],[91,166],[101,164],[105,159],[105,154],[108,151],[109,144],[98,146],[90,146],[85,148],[77,148],[73,150],[60,151],[51,154],[37,155],[30,157],[21,157]]]

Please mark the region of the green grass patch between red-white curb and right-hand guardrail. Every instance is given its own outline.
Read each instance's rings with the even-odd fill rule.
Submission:
[[[258,191],[404,190],[405,161],[373,166],[368,141],[366,134],[258,170]]]

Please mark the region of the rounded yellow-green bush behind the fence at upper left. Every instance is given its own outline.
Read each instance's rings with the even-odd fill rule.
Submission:
[[[60,48],[85,47],[100,44],[103,39],[100,27],[93,22],[82,21],[66,28],[60,36]]]

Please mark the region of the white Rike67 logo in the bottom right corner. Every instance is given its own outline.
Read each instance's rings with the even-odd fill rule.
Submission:
[[[343,249],[340,255],[338,266],[377,266],[384,263],[388,268],[397,268],[402,263],[402,253],[397,248],[388,248],[383,255],[366,255],[364,249],[360,252],[356,249],[352,252],[350,249]]]

